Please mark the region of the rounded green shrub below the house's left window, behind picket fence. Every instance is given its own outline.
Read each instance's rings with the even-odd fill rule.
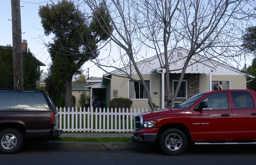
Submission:
[[[132,108],[132,100],[128,99],[128,98],[123,98],[123,97],[117,97],[114,98],[112,100],[109,101],[109,108],[117,108],[117,110],[120,108],[122,110],[122,108],[124,108],[124,110],[126,110],[126,108],[128,108],[128,110],[130,110],[130,108]]]

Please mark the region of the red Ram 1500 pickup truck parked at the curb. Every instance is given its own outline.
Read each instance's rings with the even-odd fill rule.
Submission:
[[[132,141],[179,155],[187,143],[256,144],[256,92],[203,92],[180,105],[135,116]]]

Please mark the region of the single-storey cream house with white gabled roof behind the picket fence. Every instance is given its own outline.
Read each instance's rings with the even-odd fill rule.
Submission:
[[[177,48],[173,51],[173,59],[170,60],[170,85],[173,94],[183,64],[186,60],[187,50]],[[137,62],[146,84],[150,90],[152,102],[166,107],[165,69],[160,67],[158,57],[150,57]],[[124,69],[124,68],[123,68]],[[127,68],[127,70],[129,70]],[[127,71],[126,70],[126,71]],[[133,108],[149,108],[148,97],[140,83],[118,77],[122,75],[119,70],[105,74],[102,83],[87,86],[91,90],[91,106],[100,101],[100,107],[106,107],[106,103],[115,97],[125,97],[133,100]],[[139,79],[132,66],[132,77]],[[201,55],[194,55],[187,67],[182,85],[173,106],[182,103],[189,97],[200,92],[221,89],[246,89],[246,77],[252,75],[228,66],[221,61],[207,59]],[[104,105],[104,106],[103,106]]]

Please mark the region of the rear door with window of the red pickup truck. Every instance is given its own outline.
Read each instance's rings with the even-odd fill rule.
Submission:
[[[234,103],[234,138],[237,141],[256,140],[256,109],[249,92],[231,92]]]

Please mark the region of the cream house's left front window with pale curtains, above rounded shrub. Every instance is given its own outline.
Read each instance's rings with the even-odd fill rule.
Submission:
[[[150,90],[150,81],[145,80],[147,88]],[[130,99],[147,99],[148,95],[141,83],[129,81],[129,98]]]

